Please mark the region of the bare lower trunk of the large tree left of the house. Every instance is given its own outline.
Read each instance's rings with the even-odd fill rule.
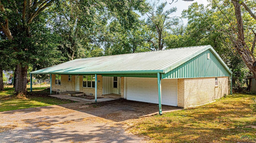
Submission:
[[[17,95],[27,94],[27,73],[28,66],[22,66],[22,63],[16,66],[15,92]]]

